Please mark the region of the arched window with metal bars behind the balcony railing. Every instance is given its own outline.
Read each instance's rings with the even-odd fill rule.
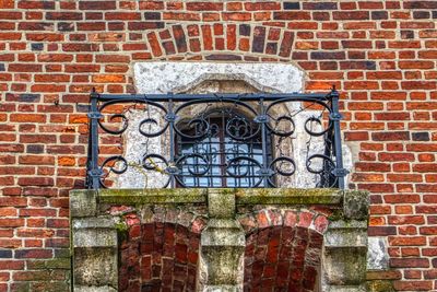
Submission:
[[[244,106],[203,108],[181,119],[175,145],[179,186],[265,186],[260,171],[263,160],[271,160],[271,151],[263,157],[261,124]]]

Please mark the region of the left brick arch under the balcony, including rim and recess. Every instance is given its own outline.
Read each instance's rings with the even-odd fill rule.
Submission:
[[[119,236],[119,291],[196,291],[203,217],[154,208],[125,213],[128,229]]]

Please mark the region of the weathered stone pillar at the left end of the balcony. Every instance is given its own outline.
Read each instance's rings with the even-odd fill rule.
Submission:
[[[70,214],[73,291],[117,291],[118,244],[114,220],[95,217],[95,191],[71,191]]]

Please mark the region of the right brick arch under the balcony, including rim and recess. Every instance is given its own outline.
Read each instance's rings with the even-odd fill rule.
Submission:
[[[239,222],[246,231],[245,291],[318,291],[326,215],[268,209]]]

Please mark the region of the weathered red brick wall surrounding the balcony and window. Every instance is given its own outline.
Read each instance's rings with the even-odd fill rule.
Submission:
[[[386,276],[437,289],[436,1],[0,7],[0,290],[66,289],[68,264],[49,259],[68,257],[87,93],[132,92],[132,65],[147,60],[285,61],[307,91],[335,84],[358,157],[351,187],[371,191],[369,235],[388,236]]]

